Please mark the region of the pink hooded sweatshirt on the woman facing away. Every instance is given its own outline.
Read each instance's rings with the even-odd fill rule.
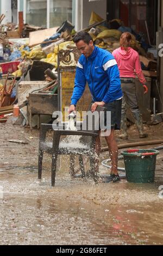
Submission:
[[[116,49],[112,52],[115,57],[120,70],[120,77],[132,77],[135,78],[135,74],[139,78],[142,84],[146,84],[146,79],[142,74],[139,54],[128,47],[128,51],[122,50],[122,48]]]

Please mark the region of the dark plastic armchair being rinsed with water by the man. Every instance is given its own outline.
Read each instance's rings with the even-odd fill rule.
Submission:
[[[85,131],[70,131],[70,130],[61,130],[59,126],[49,125],[49,124],[41,124],[40,127],[40,141],[39,141],[39,164],[38,164],[38,178],[41,179],[42,176],[42,159],[43,153],[48,153],[52,155],[52,186],[55,185],[55,174],[57,169],[57,158],[58,155],[70,155],[70,174],[71,176],[75,176],[74,173],[74,156],[79,156],[79,165],[80,170],[82,172],[82,176],[85,177],[84,170],[84,162],[83,156],[87,156],[90,158],[90,166],[91,173],[95,183],[98,182],[98,168],[97,164],[97,154],[95,152],[96,147],[96,138],[99,135],[99,119],[93,118],[92,131],[88,131],[88,120],[91,105],[89,109],[87,109],[86,117],[83,121],[85,124]],[[104,111],[104,107],[97,107],[96,111],[99,112],[99,117]],[[46,134],[48,131],[53,131],[53,142],[46,142]],[[82,147],[76,145],[76,147],[72,147],[72,145],[66,144],[66,148],[62,147],[62,143],[60,141],[61,136],[82,136],[80,137],[80,141],[82,141]]]

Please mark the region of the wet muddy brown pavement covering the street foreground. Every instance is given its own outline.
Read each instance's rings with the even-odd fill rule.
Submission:
[[[1,125],[0,134],[1,245],[163,244],[163,193],[159,192],[163,185],[163,150],[156,164],[156,181],[160,183],[130,184],[122,180],[95,185],[91,179],[72,179],[69,159],[61,157],[55,187],[51,187],[48,155],[42,181],[37,180],[39,133]],[[8,139],[26,139],[29,143],[15,144]],[[107,157],[104,153],[101,160]],[[100,172],[109,170],[101,166]]]

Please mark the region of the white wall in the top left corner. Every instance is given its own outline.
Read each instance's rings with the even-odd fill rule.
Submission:
[[[1,1],[1,13],[5,15],[4,20],[2,21],[2,24],[5,24],[7,22],[11,22],[11,0],[2,0]]]

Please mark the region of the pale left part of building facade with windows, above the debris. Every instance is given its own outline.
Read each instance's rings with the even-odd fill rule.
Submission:
[[[3,23],[17,23],[18,11],[23,11],[24,23],[43,28],[60,26],[68,20],[76,30],[87,27],[91,11],[106,18],[107,0],[0,0]]]

